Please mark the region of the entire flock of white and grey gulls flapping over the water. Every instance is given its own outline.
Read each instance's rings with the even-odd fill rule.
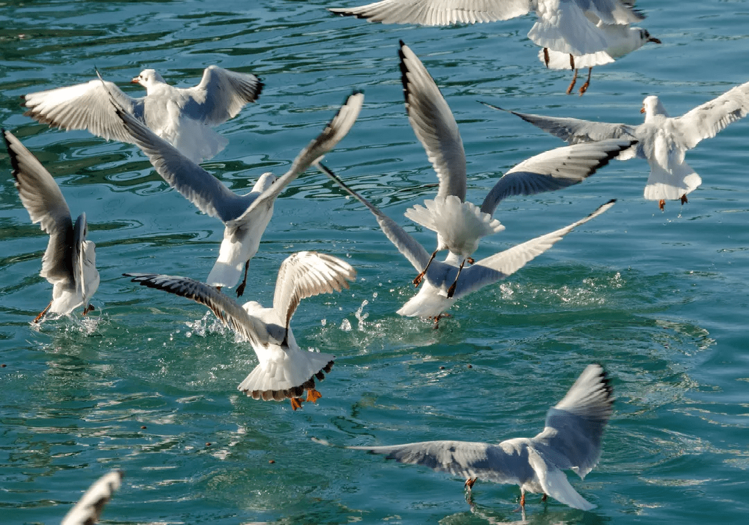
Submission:
[[[631,25],[643,20],[634,1],[624,0],[383,0],[361,7],[330,8],[344,16],[372,22],[415,25],[490,22],[533,11],[537,21],[528,37],[542,49],[539,58],[549,68],[577,70],[607,64],[646,42],[659,43],[649,32]],[[323,131],[297,155],[282,176],[265,173],[248,194],[229,190],[198,163],[219,153],[227,141],[213,131],[260,96],[263,83],[256,76],[210,66],[194,88],[168,85],[155,70],[143,70],[132,82],[146,90],[132,98],[99,76],[89,82],[25,95],[26,115],[61,129],[88,129],[108,140],[135,144],[157,173],[201,212],[224,225],[219,257],[204,282],[189,277],[128,273],[134,283],[192,299],[215,313],[228,328],[252,346],[258,365],[237,387],[253,399],[290,399],[294,410],[316,402],[318,381],[332,369],[333,354],[303,351],[291,330],[291,317],[303,298],[340,292],[354,280],[355,269],[328,254],[303,251],[289,255],[279,268],[271,307],[257,301],[238,303],[225,293],[234,288],[237,298],[246,289],[249,261],[273,216],[273,204],[284,189],[309,168],[327,174],[343,191],[375,216],[395,248],[413,265],[420,286],[397,313],[431,319],[434,328],[459,298],[496,283],[543,254],[575,227],[601,215],[614,200],[566,227],[475,261],[471,257],[482,237],[504,230],[494,218],[506,198],[556,191],[583,182],[611,159],[646,159],[650,175],[644,197],[687,202],[700,185],[700,176],[685,162],[687,150],[715,136],[749,112],[749,82],[694,108],[682,117],[669,117],[657,96],[643,102],[640,125],[510,111],[557,135],[570,145],[524,160],[498,179],[480,206],[466,201],[467,168],[455,117],[437,83],[408,46],[398,49],[404,103],[411,127],[437,174],[437,195],[415,204],[406,218],[436,233],[431,253],[413,236],[354,191],[323,165],[351,130],[364,103],[355,91]],[[589,87],[588,80],[580,94]],[[497,109],[497,106],[492,106]],[[52,283],[52,301],[34,319],[46,313],[70,314],[91,310],[91,297],[100,284],[94,242],[86,239],[85,212],[76,221],[55,179],[9,131],[3,131],[20,200],[34,223],[49,234],[40,275]],[[444,260],[438,252],[446,251]],[[306,393],[306,395],[305,395]],[[613,390],[598,364],[586,367],[561,402],[548,411],[545,428],[536,437],[515,438],[498,444],[428,441],[393,446],[352,446],[385,454],[396,461],[423,464],[464,476],[470,490],[476,479],[515,483],[526,491],[554,497],[575,509],[595,506],[568,482],[562,470],[580,477],[595,467],[601,440],[612,414]],[[64,525],[94,523],[103,504],[121,482],[121,473],[108,473],[85,494],[63,521]]]

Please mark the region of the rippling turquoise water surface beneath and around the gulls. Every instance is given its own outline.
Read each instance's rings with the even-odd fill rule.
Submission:
[[[537,60],[525,36],[530,17],[413,28],[324,10],[358,3],[2,4],[1,126],[55,175],[73,214],[86,212],[101,284],[88,318],[30,325],[51,293],[38,276],[47,238],[30,224],[0,153],[0,521],[56,523],[112,468],[126,477],[104,523],[520,521],[516,486],[479,482],[472,507],[461,479],[310,437],[366,445],[535,435],[547,408],[598,361],[613,378],[615,415],[598,467],[584,481],[569,473],[598,509],[530,496],[527,521],[743,523],[749,120],[688,153],[703,185],[683,207],[660,212],[643,200],[640,160],[503,202],[506,230],[485,239],[478,257],[619,199],[509,280],[458,301],[438,331],[395,314],[413,295],[415,272],[372,215],[325,176],[301,176],[276,201],[246,296],[270,304],[277,268],[293,251],[344,257],[359,273],[348,291],[307,299],[294,316],[300,344],[337,360],[320,384],[324,397],[293,412],[239,395],[254,354],[204,307],[121,277],[204,279],[219,222],[170,190],[135,147],[47,129],[18,105],[23,93],[91,79],[94,67],[133,95],[139,88],[127,82],[145,67],[182,87],[208,64],[255,73],[266,85],[261,98],[219,128],[229,145],[204,164],[239,191],[264,171],[285,171],[360,88],[360,119],[327,165],[408,224],[404,210],[434,195],[436,177],[404,114],[398,39],[422,58],[458,120],[475,203],[512,165],[562,145],[476,100],[640,123],[646,95],[676,115],[748,80],[744,0],[637,2],[643,27],[663,43],[595,69],[583,97],[564,94],[568,72]],[[431,232],[409,230],[431,248]]]

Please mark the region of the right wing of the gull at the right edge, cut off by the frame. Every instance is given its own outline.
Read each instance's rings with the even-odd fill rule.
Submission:
[[[718,98],[698,105],[681,117],[673,119],[679,129],[675,140],[691,149],[705,138],[712,138],[732,122],[749,113],[749,82],[736,86]]]

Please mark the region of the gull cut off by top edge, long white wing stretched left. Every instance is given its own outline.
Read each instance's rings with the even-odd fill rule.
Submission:
[[[542,52],[574,56],[598,53],[605,59],[606,34],[596,24],[631,24],[645,16],[626,0],[382,0],[361,7],[329,8],[342,16],[356,16],[383,24],[450,25],[507,20],[536,13],[528,37]],[[607,61],[611,61],[610,57]]]

